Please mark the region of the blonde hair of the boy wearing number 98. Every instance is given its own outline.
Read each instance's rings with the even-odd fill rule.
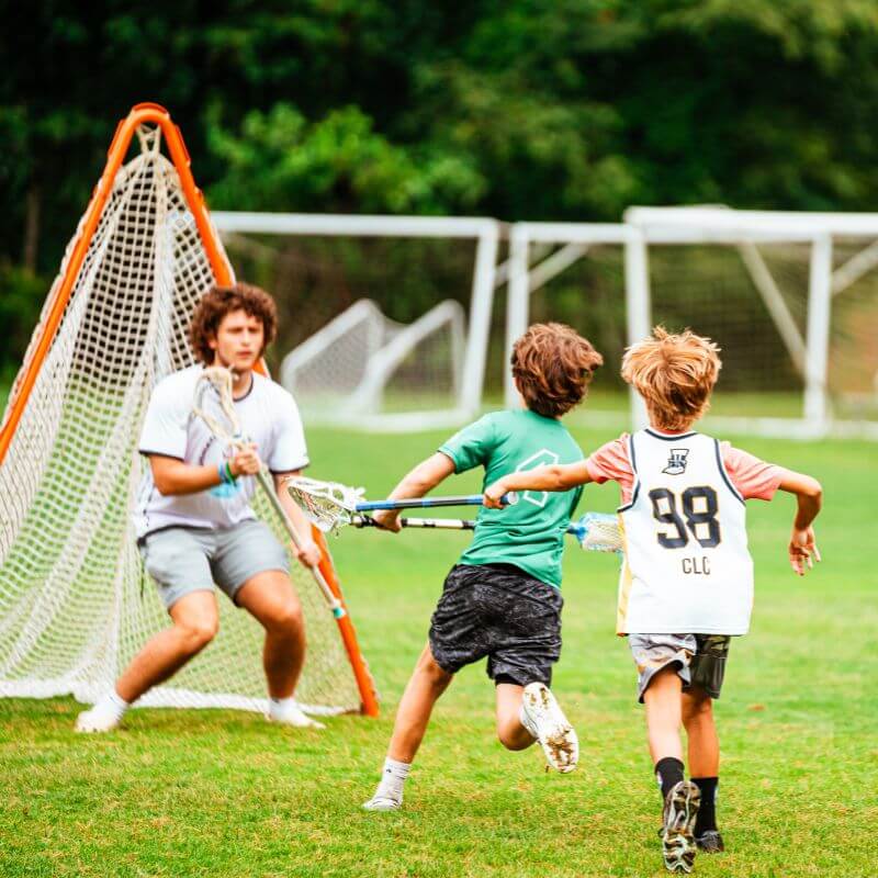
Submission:
[[[643,397],[658,429],[682,430],[710,408],[722,363],[719,348],[691,329],[671,334],[656,326],[622,358],[622,378]]]

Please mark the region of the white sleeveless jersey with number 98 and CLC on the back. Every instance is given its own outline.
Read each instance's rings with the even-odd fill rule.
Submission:
[[[716,439],[645,429],[628,438],[631,502],[619,508],[626,543],[620,634],[745,634],[753,560],[744,499]]]

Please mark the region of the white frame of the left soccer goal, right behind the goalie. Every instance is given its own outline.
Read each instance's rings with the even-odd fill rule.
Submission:
[[[378,216],[305,213],[247,213],[217,211],[212,214],[221,234],[302,235],[333,237],[447,238],[475,240],[469,325],[465,334],[461,380],[454,406],[444,410],[372,415],[358,424],[367,429],[408,431],[457,426],[479,413],[485,378],[491,313],[496,285],[497,250],[502,225],[488,217]],[[414,324],[413,324],[414,326]],[[410,327],[409,327],[410,328]],[[423,328],[423,325],[421,325]],[[416,333],[417,330],[413,330]],[[402,345],[402,342],[399,342]],[[396,350],[396,354],[399,353]],[[398,360],[396,360],[398,363]],[[394,352],[383,369],[392,370]]]

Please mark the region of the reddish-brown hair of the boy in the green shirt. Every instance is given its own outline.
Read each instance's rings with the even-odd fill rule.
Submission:
[[[513,347],[513,375],[531,412],[558,418],[588,393],[604,358],[563,323],[536,323]]]

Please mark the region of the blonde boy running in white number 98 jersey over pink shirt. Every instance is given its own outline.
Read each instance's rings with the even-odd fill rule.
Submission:
[[[505,492],[524,488],[566,491],[608,480],[621,488],[626,552],[617,630],[629,637],[638,666],[671,871],[690,871],[698,848],[723,849],[714,812],[719,740],[712,699],[720,695],[730,637],[750,627],[753,562],[744,502],[772,499],[778,487],[795,494],[790,564],[803,575],[820,560],[811,528],[820,484],[691,430],[708,409],[718,351],[689,330],[669,335],[656,327],[622,361],[622,378],[643,397],[650,428],[623,435],[583,463],[507,476],[485,492],[485,503],[495,505]]]

